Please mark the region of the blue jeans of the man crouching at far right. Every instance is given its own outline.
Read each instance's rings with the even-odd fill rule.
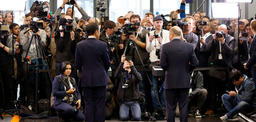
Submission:
[[[237,100],[236,96],[224,94],[221,96],[221,99],[226,110],[229,111],[226,113],[229,119],[232,119],[234,115],[240,112],[247,113],[253,111],[253,107],[249,103]]]

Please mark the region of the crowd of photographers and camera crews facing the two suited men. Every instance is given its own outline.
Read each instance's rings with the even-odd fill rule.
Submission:
[[[82,18],[74,16],[72,7],[61,13],[66,4],[77,7]],[[184,6],[183,0],[180,8],[184,9]],[[90,18],[76,1],[64,0],[54,15],[49,14],[48,9],[48,2],[34,2],[31,11],[25,15],[26,24],[22,26],[13,23],[12,12],[5,16],[0,14],[0,79],[3,86],[0,108],[14,107],[19,85],[20,104],[34,111],[35,68],[60,69],[63,61],[75,65],[76,44],[88,37],[86,26],[88,23],[100,26],[103,21]],[[168,30],[173,26],[183,31],[181,40],[193,45],[201,68],[191,73],[189,112],[196,117],[218,114],[224,103],[229,111],[221,117],[225,121],[234,119],[239,112],[255,113],[248,109],[255,108],[256,104],[254,84],[250,79],[254,73],[248,70],[248,65],[246,69],[243,66],[255,53],[250,51],[256,31],[253,19],[238,22],[234,18],[220,23],[220,20],[204,15],[204,11],[191,16],[176,10],[169,15],[171,21],[167,21],[164,15],[155,16],[148,12],[139,16],[131,12],[120,16],[117,23],[104,20],[101,28],[99,40],[108,45],[112,69],[112,77],[108,77],[106,119],[119,116],[123,121],[128,120],[129,108],[132,120],[165,119],[164,76],[156,77],[146,69],[159,67],[162,45],[171,41]],[[177,15],[181,19],[177,19]],[[71,76],[80,89],[75,66],[72,68]],[[40,73],[39,99],[51,98],[51,79],[59,74],[59,71]],[[129,79],[129,74],[134,77]],[[179,116],[178,110],[177,104],[176,116]]]

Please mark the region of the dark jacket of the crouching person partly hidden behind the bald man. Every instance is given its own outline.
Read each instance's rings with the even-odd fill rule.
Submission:
[[[193,98],[201,89],[204,88],[204,78],[200,71],[194,71],[191,81],[192,92],[188,94],[188,98]]]

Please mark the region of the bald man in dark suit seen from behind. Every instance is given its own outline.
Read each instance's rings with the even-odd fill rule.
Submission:
[[[171,42],[162,47],[160,66],[166,70],[166,117],[175,121],[176,99],[179,100],[180,121],[188,121],[189,72],[196,68],[198,60],[193,45],[180,39],[182,31],[174,26],[170,29]]]

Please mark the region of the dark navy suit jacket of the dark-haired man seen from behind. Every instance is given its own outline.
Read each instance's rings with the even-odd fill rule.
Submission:
[[[110,67],[108,46],[96,38],[88,38],[76,46],[75,65],[82,70],[81,87],[108,85],[106,71]]]

